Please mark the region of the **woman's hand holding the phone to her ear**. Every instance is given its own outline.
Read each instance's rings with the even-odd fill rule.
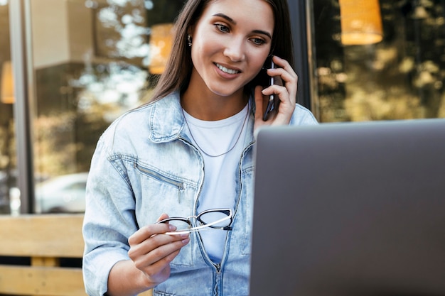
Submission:
[[[283,83],[282,85],[274,84],[265,89],[262,89],[263,87],[259,85],[255,87],[256,111],[254,130],[265,125],[287,125],[294,113],[298,76],[286,60],[277,56],[272,57],[272,59],[277,68],[268,69],[267,75],[279,77]],[[267,121],[263,121],[263,114],[271,94],[274,94],[275,98],[279,99],[279,107],[278,110],[274,110],[269,114]]]

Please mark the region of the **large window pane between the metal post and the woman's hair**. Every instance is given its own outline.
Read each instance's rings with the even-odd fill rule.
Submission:
[[[118,116],[149,101],[183,2],[29,3],[36,212],[79,212],[74,197],[85,198],[82,177],[97,140]]]

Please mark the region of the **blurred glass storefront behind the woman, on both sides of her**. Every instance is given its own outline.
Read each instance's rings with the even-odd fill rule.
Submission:
[[[98,138],[148,102],[183,0],[0,0],[0,214],[83,212]],[[320,122],[445,117],[444,0],[289,1]]]

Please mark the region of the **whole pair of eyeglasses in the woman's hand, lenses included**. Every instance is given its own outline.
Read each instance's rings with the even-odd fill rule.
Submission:
[[[191,219],[195,218],[199,226],[193,227]],[[168,223],[176,226],[176,231],[166,232],[168,235],[175,234],[189,234],[193,231],[200,231],[203,229],[223,229],[232,230],[232,210],[231,209],[208,209],[200,212],[198,216],[171,217],[156,222]]]

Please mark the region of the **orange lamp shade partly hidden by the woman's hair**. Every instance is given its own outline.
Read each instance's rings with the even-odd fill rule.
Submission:
[[[166,67],[171,52],[173,23],[161,23],[151,26],[150,63],[151,74],[161,74]]]

